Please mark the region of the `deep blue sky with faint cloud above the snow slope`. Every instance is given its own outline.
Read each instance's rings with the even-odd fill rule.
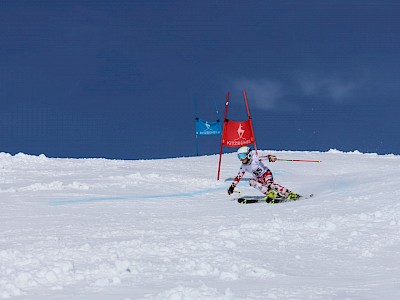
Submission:
[[[0,1],[1,152],[192,156],[246,90],[258,148],[400,154],[399,80],[398,0]]]

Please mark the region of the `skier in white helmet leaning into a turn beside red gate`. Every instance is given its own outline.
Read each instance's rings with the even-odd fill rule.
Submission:
[[[287,188],[274,182],[272,172],[267,166],[263,164],[261,159],[257,156],[255,151],[249,147],[240,147],[237,151],[239,160],[242,162],[238,175],[233,180],[231,186],[228,188],[228,194],[232,194],[235,187],[238,185],[240,179],[246,172],[252,174],[253,178],[250,179],[250,186],[258,189],[265,195],[265,200],[269,203],[279,202],[279,200],[296,200],[300,195],[295,194]],[[268,155],[270,162],[276,161],[276,156]]]

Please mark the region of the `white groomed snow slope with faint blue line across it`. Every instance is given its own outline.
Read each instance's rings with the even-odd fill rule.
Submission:
[[[234,154],[0,153],[0,298],[400,299],[400,157],[266,153],[322,160],[268,164],[315,197],[238,204]]]

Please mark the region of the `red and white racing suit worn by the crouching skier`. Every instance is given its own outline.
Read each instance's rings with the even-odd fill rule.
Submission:
[[[261,159],[256,155],[255,151],[252,151],[252,156],[247,164],[240,166],[238,175],[233,180],[232,185],[236,187],[246,172],[249,172],[253,178],[250,179],[249,184],[261,191],[261,193],[267,195],[270,190],[275,191],[281,196],[286,197],[289,194],[289,190],[277,183],[274,183],[272,172],[267,166],[263,164]]]

